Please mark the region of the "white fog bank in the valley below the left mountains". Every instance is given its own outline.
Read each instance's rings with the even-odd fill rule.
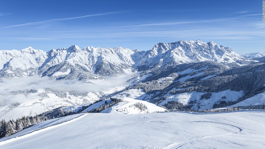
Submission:
[[[10,78],[0,82],[0,106],[10,105],[14,102],[29,100],[23,93],[15,93],[24,90],[43,90],[45,88],[67,91],[104,92],[112,88],[126,86],[130,77],[127,74],[107,76],[104,80],[55,80],[47,76],[28,76]]]

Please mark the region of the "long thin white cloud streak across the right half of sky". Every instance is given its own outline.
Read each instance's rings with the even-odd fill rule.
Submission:
[[[108,28],[128,28],[128,27],[138,27],[138,26],[162,26],[162,25],[178,25],[178,24],[190,24],[190,23],[203,23],[203,22],[213,22],[213,21],[235,20],[235,19],[241,19],[242,17],[246,17],[246,16],[256,16],[256,15],[262,15],[262,14],[241,15],[241,16],[221,18],[221,19],[210,19],[210,20],[199,20],[199,21],[183,21],[183,22],[152,23],[152,24],[140,24],[140,25],[118,26],[118,27],[108,27]]]

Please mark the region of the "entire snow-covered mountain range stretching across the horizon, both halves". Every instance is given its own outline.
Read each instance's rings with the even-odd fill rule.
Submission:
[[[229,67],[255,62],[238,55],[231,48],[201,40],[158,43],[149,51],[122,47],[52,49],[49,52],[32,47],[0,51],[0,77],[38,75],[51,79],[102,79],[98,75],[148,70],[189,62],[215,61]]]

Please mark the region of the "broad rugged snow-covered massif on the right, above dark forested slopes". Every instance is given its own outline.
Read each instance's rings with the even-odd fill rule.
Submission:
[[[146,52],[137,64],[142,66],[161,67],[189,62],[216,61],[229,67],[250,64],[251,60],[235,53],[231,48],[219,46],[213,41],[205,43],[201,40],[180,40],[172,43],[158,43]]]

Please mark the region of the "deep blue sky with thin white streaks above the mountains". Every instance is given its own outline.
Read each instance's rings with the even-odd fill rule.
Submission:
[[[239,54],[265,52],[262,1],[2,1],[0,49],[50,51],[214,41]]]

